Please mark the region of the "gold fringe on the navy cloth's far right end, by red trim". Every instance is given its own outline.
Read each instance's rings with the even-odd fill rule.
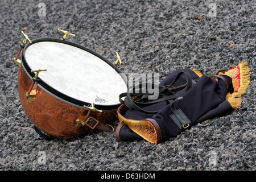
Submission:
[[[234,85],[234,93],[233,94],[228,93],[226,95],[226,100],[229,101],[230,105],[234,109],[238,109],[241,107],[242,95],[245,94],[246,89],[248,88],[248,86],[250,84],[250,68],[249,68],[248,64],[243,60],[238,65],[240,67],[240,87],[235,88],[236,85],[238,85],[239,83],[238,83],[238,80],[236,80],[236,78],[232,78],[232,83]],[[228,75],[228,76],[232,77],[232,75],[230,75],[229,71],[224,73],[224,75]]]

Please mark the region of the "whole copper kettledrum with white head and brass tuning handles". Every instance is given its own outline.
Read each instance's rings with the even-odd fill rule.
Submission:
[[[44,133],[75,138],[99,129],[117,115],[127,78],[100,54],[65,39],[24,36],[14,63],[19,65],[18,92],[28,118]],[[21,53],[21,60],[19,55]]]

